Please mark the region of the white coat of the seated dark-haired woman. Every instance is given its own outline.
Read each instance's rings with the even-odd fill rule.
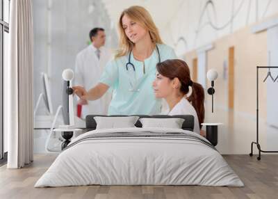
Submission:
[[[170,112],[168,109],[167,115],[169,115],[169,116],[174,116],[174,115],[192,115],[192,116],[194,116],[193,132],[196,132],[197,134],[199,134],[200,129],[199,129],[199,120],[198,120],[197,112],[195,111],[192,104],[190,104],[190,102],[188,102],[188,100],[186,100],[185,97],[183,97],[181,99],[181,101],[179,101]]]

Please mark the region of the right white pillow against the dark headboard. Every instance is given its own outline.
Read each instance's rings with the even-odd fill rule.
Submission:
[[[142,128],[162,127],[171,129],[181,129],[184,119],[182,118],[140,118]]]

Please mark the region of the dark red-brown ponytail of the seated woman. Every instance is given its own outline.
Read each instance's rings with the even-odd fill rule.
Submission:
[[[201,84],[193,82],[192,83],[192,93],[188,97],[188,101],[192,103],[192,106],[197,112],[199,127],[202,127],[204,122],[204,88]]]

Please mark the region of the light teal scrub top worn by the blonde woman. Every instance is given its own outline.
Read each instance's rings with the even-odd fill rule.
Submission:
[[[177,58],[174,49],[164,44],[157,44],[161,62]],[[108,115],[154,115],[161,113],[161,100],[156,99],[152,83],[156,77],[158,52],[155,49],[144,63],[136,61],[131,53],[131,63],[126,70],[129,54],[110,61],[101,75],[100,82],[113,89],[113,97],[108,108]],[[133,90],[133,91],[131,91]]]

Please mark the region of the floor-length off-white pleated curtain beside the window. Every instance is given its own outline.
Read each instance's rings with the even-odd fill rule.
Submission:
[[[9,64],[4,68],[7,168],[33,161],[33,15],[32,0],[10,1]]]

